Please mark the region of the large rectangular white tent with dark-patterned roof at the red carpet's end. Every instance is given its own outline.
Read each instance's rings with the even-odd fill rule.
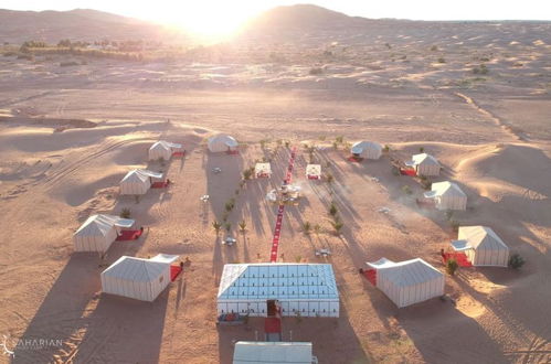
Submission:
[[[218,313],[267,317],[277,300],[282,315],[339,317],[339,291],[329,264],[226,264],[218,293]]]

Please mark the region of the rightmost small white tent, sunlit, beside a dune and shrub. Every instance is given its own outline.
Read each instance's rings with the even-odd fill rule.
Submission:
[[[465,253],[474,266],[507,267],[509,247],[490,227],[460,226],[457,238],[452,247]]]

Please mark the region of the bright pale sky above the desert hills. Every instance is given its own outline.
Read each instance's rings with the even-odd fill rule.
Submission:
[[[225,33],[287,0],[1,0],[12,10],[95,9],[199,33]],[[306,0],[348,15],[412,20],[551,20],[551,0]]]

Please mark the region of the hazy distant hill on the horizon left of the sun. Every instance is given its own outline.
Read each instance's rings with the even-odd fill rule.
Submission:
[[[162,40],[162,25],[89,9],[71,11],[15,11],[0,9],[0,42],[28,40],[56,43],[74,41]]]

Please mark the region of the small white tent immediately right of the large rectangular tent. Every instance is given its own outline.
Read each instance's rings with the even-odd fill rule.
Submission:
[[[444,275],[423,259],[368,263],[377,271],[377,288],[399,308],[444,295]]]

